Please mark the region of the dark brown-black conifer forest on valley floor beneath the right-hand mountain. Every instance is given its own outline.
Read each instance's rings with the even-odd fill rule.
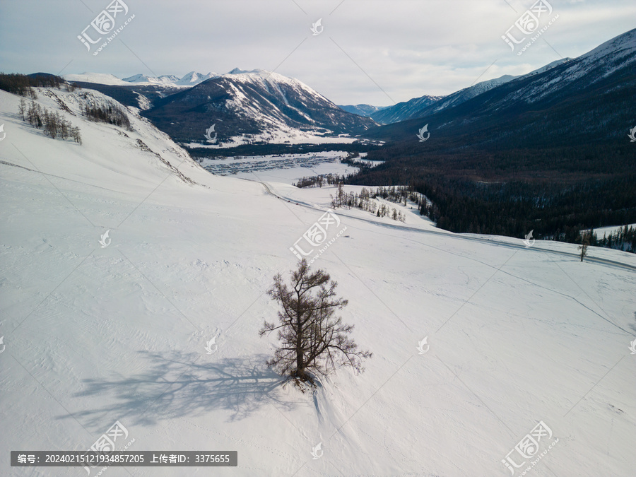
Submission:
[[[579,242],[581,230],[636,223],[633,154],[607,145],[452,155],[396,147],[371,151],[368,158],[385,162],[345,181],[406,184],[432,201],[421,213],[452,232],[524,237],[534,230],[534,237]],[[623,236],[636,251],[629,234]],[[617,247],[616,240],[598,239],[591,245]]]

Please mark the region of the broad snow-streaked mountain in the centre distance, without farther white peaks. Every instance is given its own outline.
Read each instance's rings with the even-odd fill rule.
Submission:
[[[341,110],[295,78],[254,69],[233,69],[155,101],[144,115],[177,141],[204,142],[216,124],[219,141],[284,142],[290,131],[324,136],[355,135],[377,126]],[[245,138],[251,139],[245,139]]]

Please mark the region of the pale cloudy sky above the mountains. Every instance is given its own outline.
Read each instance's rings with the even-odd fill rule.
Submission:
[[[78,35],[111,1],[0,0],[0,71],[125,78],[260,68],[337,104],[387,106],[524,74],[636,28],[633,0],[543,0],[552,12],[543,8],[539,27],[555,20],[519,56],[502,35],[521,40],[514,24],[533,0],[120,0],[128,12],[114,28],[134,18],[94,56],[101,42],[89,52]]]

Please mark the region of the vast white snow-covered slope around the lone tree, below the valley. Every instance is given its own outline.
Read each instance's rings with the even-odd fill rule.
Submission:
[[[75,114],[78,93],[54,90]],[[0,91],[0,475],[86,476],[8,452],[88,449],[117,420],[129,450],[236,450],[239,465],[107,476],[510,476],[502,460],[524,461],[509,453],[540,421],[552,436],[526,475],[636,469],[634,254],[581,263],[576,245],[338,209],[346,232],[314,267],[374,355],[302,394],[267,370],[276,338],[257,331],[328,189],[211,175],[139,117],[131,132],[60,111],[79,146],[17,112]]]

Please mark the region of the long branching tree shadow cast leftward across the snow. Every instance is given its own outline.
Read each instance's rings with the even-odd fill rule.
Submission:
[[[132,418],[146,425],[161,419],[203,416],[218,409],[231,411],[228,420],[233,421],[268,403],[293,407],[276,396],[274,390],[284,379],[267,369],[264,355],[221,359],[199,355],[195,361],[196,353],[139,354],[140,360],[134,361],[136,368],[143,369],[139,374],[85,379],[84,389],[73,396],[97,397],[102,405],[73,412],[73,416],[87,427],[101,428],[115,420],[129,422]]]

